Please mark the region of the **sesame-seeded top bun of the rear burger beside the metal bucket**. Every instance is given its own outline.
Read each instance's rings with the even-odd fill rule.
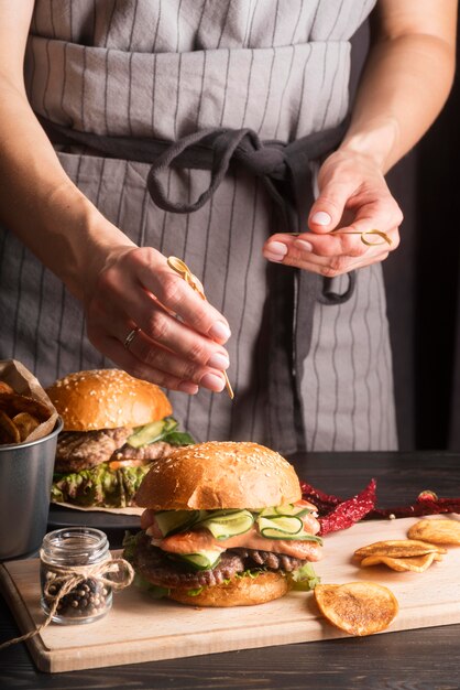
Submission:
[[[141,427],[172,413],[161,388],[120,369],[77,371],[46,389],[65,431]]]

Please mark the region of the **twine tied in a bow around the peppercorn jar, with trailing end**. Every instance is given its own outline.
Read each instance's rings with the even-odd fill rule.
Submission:
[[[106,586],[110,586],[114,591],[124,590],[128,587],[133,579],[134,579],[134,570],[127,560],[123,558],[114,558],[105,561],[103,563],[98,563],[97,565],[89,567],[72,567],[72,568],[58,568],[53,565],[53,570],[56,573],[56,578],[50,580],[43,590],[44,596],[52,602],[50,607],[50,612],[46,616],[46,621],[39,625],[35,630],[31,630],[25,635],[21,635],[20,637],[14,637],[13,639],[9,639],[6,643],[0,645],[0,649],[6,649],[11,645],[15,645],[17,643],[25,642],[30,639],[34,635],[41,633],[53,619],[59,602],[64,596],[66,596],[69,592],[75,590],[79,584],[85,582],[88,578],[92,578],[98,583],[103,584]],[[121,574],[121,578],[117,580],[111,580],[107,578],[107,575],[112,573]],[[50,586],[58,586],[56,593],[50,592]]]

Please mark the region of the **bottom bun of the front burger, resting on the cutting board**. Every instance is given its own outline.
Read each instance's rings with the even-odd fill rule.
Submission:
[[[174,589],[168,597],[189,606],[254,606],[284,596],[289,591],[287,578],[276,572],[260,573],[256,578],[234,578],[228,584],[205,587],[190,596],[187,590]]]

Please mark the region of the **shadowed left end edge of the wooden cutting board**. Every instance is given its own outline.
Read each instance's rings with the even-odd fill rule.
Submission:
[[[30,615],[28,606],[8,570],[8,563],[0,563],[0,591],[18,624],[21,636],[36,630],[35,622]],[[40,671],[52,672],[53,664],[51,654],[48,648],[44,645],[40,633],[24,640],[24,643],[37,669]]]

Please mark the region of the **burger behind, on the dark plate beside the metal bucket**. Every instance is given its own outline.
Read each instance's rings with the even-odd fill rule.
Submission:
[[[194,443],[161,388],[119,369],[77,371],[46,392],[64,421],[52,502],[124,508],[152,461]]]

